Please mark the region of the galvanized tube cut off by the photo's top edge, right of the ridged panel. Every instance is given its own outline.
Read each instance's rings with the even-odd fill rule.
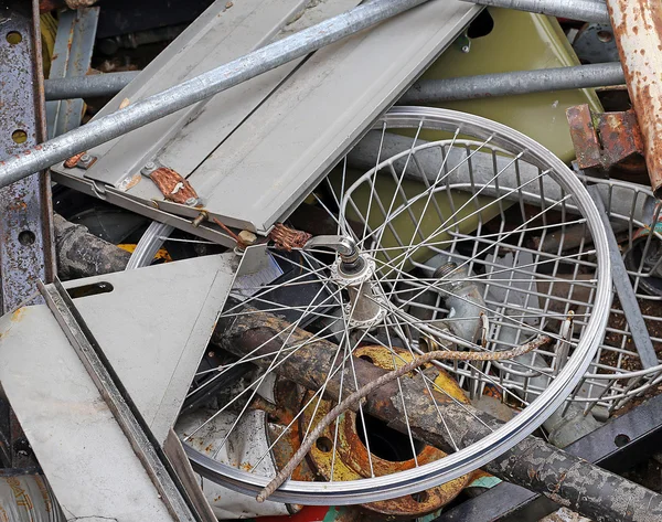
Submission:
[[[480,6],[516,9],[519,11],[549,14],[552,17],[609,23],[604,0],[466,0]],[[628,0],[623,0],[628,1]]]

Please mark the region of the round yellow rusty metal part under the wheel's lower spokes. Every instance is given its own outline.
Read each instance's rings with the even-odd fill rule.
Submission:
[[[362,347],[356,349],[355,355],[384,370],[393,370],[396,365],[401,366],[412,361],[413,356],[409,352],[397,348],[393,350],[397,353],[396,356],[383,347]],[[439,388],[439,393],[447,393],[462,403],[468,403],[462,390],[446,372],[439,371],[439,376],[435,380],[435,384]],[[306,405],[311,397],[312,393],[307,393],[301,404]],[[329,401],[322,401],[319,405],[317,401],[311,401],[303,411],[299,432],[305,434],[311,423],[312,425],[317,425],[332,407],[333,403]],[[416,466],[416,461],[413,458],[404,461],[392,461],[380,458],[372,452],[369,456],[367,448],[356,428],[356,414],[354,412],[345,412],[338,418],[335,451],[333,451],[334,438],[335,424],[332,424],[321,434],[308,455],[309,461],[313,465],[317,472],[327,480],[331,479],[331,475],[333,475],[333,480],[338,481],[357,480],[370,477],[371,462],[372,470],[377,477],[403,471]],[[416,459],[418,465],[424,465],[444,457],[446,457],[444,451],[433,446],[423,446]],[[466,475],[415,496],[373,502],[365,504],[365,508],[395,516],[424,515],[438,510],[455,499],[470,480],[472,480],[471,476]]]

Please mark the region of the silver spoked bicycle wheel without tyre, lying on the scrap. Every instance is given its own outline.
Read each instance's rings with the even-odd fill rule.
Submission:
[[[255,352],[246,352],[221,354],[217,367],[201,370],[197,379],[205,379],[192,394],[237,366],[250,369],[180,429],[195,469],[228,488],[255,494],[269,482],[282,465],[275,454],[282,452],[284,441],[290,448],[300,444],[334,404],[327,384],[340,374],[360,384],[352,374],[355,358],[381,360],[391,370],[433,348],[488,352],[496,361],[439,361],[399,377],[401,390],[407,379],[420,379],[430,396],[466,404],[468,416],[477,416],[472,412],[488,394],[517,414],[474,444],[453,443],[447,455],[428,450],[406,423],[397,444],[388,445],[395,435],[360,404],[317,440],[306,473],[295,473],[271,499],[356,504],[460,480],[562,405],[604,335],[611,276],[605,230],[589,194],[553,153],[494,121],[394,108],[288,223],[312,236],[305,241],[309,236],[281,230],[290,235],[270,244],[277,274],[288,267],[289,274],[250,291],[237,283],[222,317],[234,321],[256,310],[277,316],[282,326],[274,337],[277,349],[260,355],[259,367],[252,364]],[[546,239],[569,231],[579,235],[572,248],[564,241],[547,247]],[[295,329],[307,332],[298,344],[290,339]],[[500,352],[541,335],[547,341],[535,350],[499,361]],[[284,371],[285,361],[322,340],[337,350],[325,380],[317,388],[295,385],[301,379]],[[284,398],[288,393],[296,396]],[[402,407],[406,420],[407,404]],[[288,415],[275,415],[278,408]],[[267,432],[261,455],[249,466],[220,462],[255,412],[266,412],[259,419]],[[445,423],[441,412],[438,420]],[[356,435],[353,441],[345,429]],[[381,448],[384,439],[397,448]],[[365,456],[360,464],[348,444]],[[341,467],[352,473],[334,475]]]

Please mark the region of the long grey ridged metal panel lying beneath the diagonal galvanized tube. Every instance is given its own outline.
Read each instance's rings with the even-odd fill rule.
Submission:
[[[306,10],[301,20],[286,26],[284,33],[297,30],[297,23],[306,26],[314,23],[320,13],[333,14],[329,6],[339,9],[352,3],[355,0],[318,2],[317,9]],[[193,220],[199,210],[163,201],[149,180],[134,178],[139,182],[132,187],[127,181],[147,160],[157,159],[183,175],[195,169],[190,181],[212,216],[228,225],[266,233],[480,9],[455,0],[430,2],[319,51],[287,78],[287,74],[276,75],[281,71],[277,70],[271,73],[274,76],[265,75],[252,81],[254,84],[247,82],[222,93],[202,109],[195,109],[195,117],[183,128],[180,124],[185,118],[154,136],[149,129],[157,122],[150,124],[97,147],[90,153],[102,157],[87,171],[61,167],[54,170],[66,177],[65,183],[98,192],[102,198],[126,191],[128,198],[116,201],[134,211],[153,214],[157,205]],[[191,35],[182,36],[189,40],[184,47],[179,45],[180,52],[192,52],[186,47],[193,49]],[[170,62],[161,63],[162,68],[170,70],[177,62],[177,46],[171,47],[167,51]],[[162,73],[150,72],[148,67],[146,74]],[[281,84],[277,85],[278,82]],[[129,84],[109,109],[116,109],[125,96],[132,99],[131,93],[141,96],[139,89],[134,90],[138,84]],[[149,85],[152,84],[150,81]],[[161,82],[159,87],[163,86]],[[154,157],[158,149],[161,151]],[[87,178],[83,178],[83,172]],[[115,183],[116,188],[85,183],[92,178]],[[216,239],[225,242],[223,237]]]

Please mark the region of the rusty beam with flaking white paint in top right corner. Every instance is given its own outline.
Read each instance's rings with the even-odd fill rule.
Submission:
[[[628,92],[643,136],[651,187],[662,195],[662,2],[607,0]]]

